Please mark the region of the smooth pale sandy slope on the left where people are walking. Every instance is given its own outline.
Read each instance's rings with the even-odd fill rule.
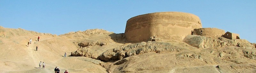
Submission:
[[[30,31],[17,32],[20,29],[1,28],[1,30],[4,31],[0,46],[1,73],[50,73],[54,72],[56,66],[60,67],[61,72],[66,69],[71,73],[106,72],[100,65],[70,57],[70,52],[78,48],[69,39]],[[40,36],[39,41],[37,36]],[[32,43],[28,46],[27,42],[30,38]],[[68,57],[64,57],[65,52]],[[45,69],[38,68],[40,61],[45,62]]]

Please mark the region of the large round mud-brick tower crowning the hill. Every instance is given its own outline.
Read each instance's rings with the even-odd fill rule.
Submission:
[[[148,41],[151,36],[163,40],[183,40],[196,28],[202,28],[199,17],[184,12],[156,12],[127,20],[125,38],[130,42]]]

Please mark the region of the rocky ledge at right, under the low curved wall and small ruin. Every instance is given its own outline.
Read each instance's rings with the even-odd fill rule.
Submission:
[[[214,38],[208,38],[208,37],[199,36],[199,35],[188,35],[184,38],[183,41],[197,48],[213,48],[213,47],[223,47],[223,46],[255,48],[255,45],[248,42],[247,40],[241,40],[241,39],[229,40],[224,37],[219,37],[219,39],[214,39]]]

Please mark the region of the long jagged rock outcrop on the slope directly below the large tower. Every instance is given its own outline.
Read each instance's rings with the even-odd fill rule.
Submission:
[[[101,54],[99,56],[99,59],[102,61],[121,60],[128,56],[139,55],[147,52],[155,52],[155,53],[175,52],[181,49],[186,49],[186,48],[178,47],[176,45],[173,45],[167,42],[148,41],[148,42],[135,43],[128,46],[117,47],[114,49],[109,49],[108,51]]]

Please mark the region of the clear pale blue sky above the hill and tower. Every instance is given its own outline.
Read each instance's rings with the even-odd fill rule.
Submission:
[[[124,33],[129,18],[163,11],[195,14],[203,28],[256,43],[256,0],[0,0],[0,26],[57,35],[95,28]]]

